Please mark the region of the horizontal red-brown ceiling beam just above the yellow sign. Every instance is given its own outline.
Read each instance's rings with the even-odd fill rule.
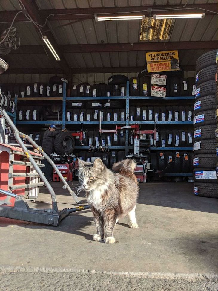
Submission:
[[[140,42],[117,44],[86,44],[86,45],[58,45],[61,53],[87,53],[110,51],[165,51],[165,50],[210,50],[218,47],[218,41],[195,42]],[[10,54],[44,54],[40,45],[22,45],[18,50],[12,50]],[[9,54],[9,56],[10,56]]]

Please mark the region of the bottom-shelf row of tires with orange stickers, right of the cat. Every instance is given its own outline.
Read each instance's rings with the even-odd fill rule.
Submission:
[[[166,173],[192,173],[193,171],[193,153],[190,152],[157,151],[150,153],[150,159],[151,170],[162,171],[166,169]]]

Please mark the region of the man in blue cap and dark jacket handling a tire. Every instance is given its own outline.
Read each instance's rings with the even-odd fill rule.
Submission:
[[[44,150],[45,153],[47,153],[48,156],[54,153],[54,140],[56,135],[62,131],[65,131],[65,129],[63,129],[62,131],[58,131],[56,129],[57,128],[55,124],[51,124],[50,127],[44,132],[42,149]],[[53,180],[52,165],[46,159],[42,160],[42,163],[45,165],[44,168],[42,168],[42,173],[44,173],[48,181],[52,181]]]

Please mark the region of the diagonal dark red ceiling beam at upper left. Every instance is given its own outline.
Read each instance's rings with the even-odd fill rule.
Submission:
[[[43,24],[45,21],[44,16],[42,16],[41,10],[39,9],[39,7],[37,6],[36,2],[33,0],[21,0],[22,4],[24,5],[25,9],[27,10],[27,13],[30,15],[30,17],[37,23],[39,24]],[[20,13],[21,14],[21,13]],[[40,37],[41,34],[43,36],[47,36],[47,38],[49,39],[49,41],[51,42],[51,44],[53,45],[55,51],[57,52],[57,54],[60,57],[60,61],[58,61],[58,64],[60,66],[60,68],[65,71],[66,74],[69,73],[70,68],[69,65],[67,63],[67,61],[65,60],[64,55],[62,54],[61,50],[58,48],[57,42],[53,36],[53,34],[51,33],[51,31],[47,31],[46,33],[44,33],[44,30],[49,30],[49,27],[47,25],[45,25],[43,27],[43,29],[41,27],[37,28],[36,26],[34,26],[36,28],[36,31],[39,32],[39,30],[41,31],[40,33]],[[42,40],[41,40],[42,41]],[[43,42],[43,41],[42,41]],[[41,45],[39,46],[40,50],[44,50],[46,49],[46,51],[48,51],[47,47],[44,47]],[[45,53],[45,51],[44,51]]]

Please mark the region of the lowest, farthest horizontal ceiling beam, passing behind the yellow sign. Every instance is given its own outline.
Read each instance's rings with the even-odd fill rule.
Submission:
[[[183,71],[195,71],[195,66],[182,66]],[[72,74],[95,74],[95,73],[138,73],[145,67],[116,67],[116,68],[71,68]],[[60,68],[24,68],[8,69],[4,74],[64,74]]]

